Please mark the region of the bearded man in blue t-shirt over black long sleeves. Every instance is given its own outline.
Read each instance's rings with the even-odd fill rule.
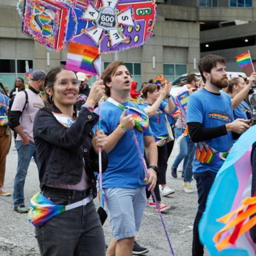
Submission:
[[[197,143],[193,172],[197,181],[199,206],[193,226],[193,256],[204,254],[198,224],[215,176],[224,163],[224,153],[231,149],[235,135],[250,127],[250,120],[233,119],[231,98],[221,91],[228,86],[225,59],[207,55],[199,60],[198,68],[205,87],[194,92],[187,105],[188,132],[192,141]]]

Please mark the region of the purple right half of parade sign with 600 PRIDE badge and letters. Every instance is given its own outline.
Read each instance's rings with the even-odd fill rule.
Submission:
[[[80,19],[92,22],[84,33],[96,45],[100,44],[100,52],[138,47],[151,35],[156,16],[154,1],[96,0],[93,3],[87,5]]]

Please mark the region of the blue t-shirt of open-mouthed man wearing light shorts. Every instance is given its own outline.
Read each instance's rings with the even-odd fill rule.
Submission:
[[[124,106],[136,107],[140,111],[144,110],[132,102],[123,103]],[[98,113],[98,108],[95,109]],[[109,136],[117,125],[120,123],[120,116],[123,110],[110,102],[104,102],[100,106],[100,128]],[[145,113],[145,112],[144,112]],[[96,127],[95,127],[96,129]],[[148,129],[140,132],[136,128],[133,129],[140,146],[140,152],[144,154],[144,136],[152,136],[152,132]],[[139,152],[133,139],[132,130],[125,132],[118,143],[108,153],[109,165],[102,174],[102,183],[104,188],[138,188],[145,186],[145,172],[139,158]]]

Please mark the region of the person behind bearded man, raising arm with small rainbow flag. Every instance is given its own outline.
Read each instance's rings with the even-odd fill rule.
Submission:
[[[232,78],[228,84],[226,92],[231,96],[234,119],[244,118],[251,119],[253,117],[251,107],[245,102],[251,87],[256,80],[256,73],[252,73],[250,82],[247,85],[241,77]]]

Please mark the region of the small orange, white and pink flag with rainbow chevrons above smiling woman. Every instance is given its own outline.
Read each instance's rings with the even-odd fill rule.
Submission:
[[[66,69],[97,76],[99,74],[99,56],[99,48],[96,46],[70,42],[66,57]]]

